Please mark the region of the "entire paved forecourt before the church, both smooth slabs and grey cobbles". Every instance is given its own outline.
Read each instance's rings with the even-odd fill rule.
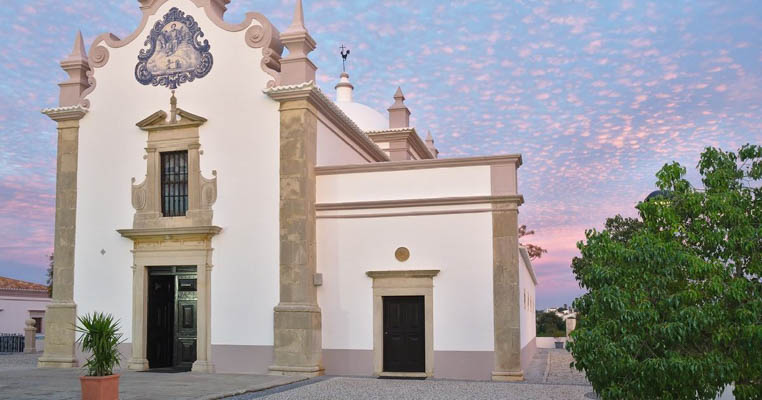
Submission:
[[[36,369],[40,354],[0,354],[0,397],[80,398],[81,369]],[[124,372],[120,399],[589,399],[592,387],[569,368],[566,350],[538,349],[522,383]]]

